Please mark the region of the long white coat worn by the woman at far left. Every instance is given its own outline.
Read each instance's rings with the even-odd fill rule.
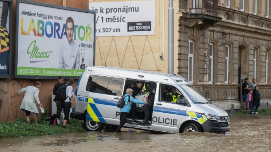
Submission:
[[[35,100],[37,104],[40,104],[39,101],[39,89],[35,86],[28,86],[26,88],[22,88],[20,91],[18,91],[18,95],[25,92],[25,96],[22,99],[22,104],[20,109],[25,111],[30,111],[34,113],[39,113],[39,110],[37,109],[37,106],[35,104]]]

